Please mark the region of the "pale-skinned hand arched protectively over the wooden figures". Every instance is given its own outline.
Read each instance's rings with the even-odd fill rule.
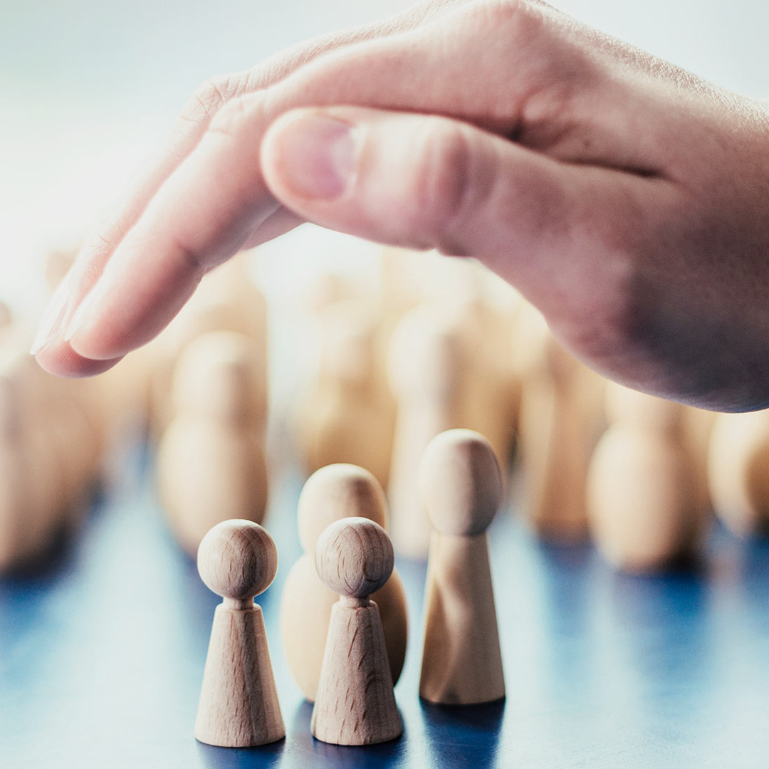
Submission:
[[[65,376],[302,221],[481,260],[592,368],[769,405],[769,108],[537,0],[438,0],[215,78],[82,248],[36,341]]]

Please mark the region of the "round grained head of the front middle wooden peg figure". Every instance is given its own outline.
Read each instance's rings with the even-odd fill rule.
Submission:
[[[368,518],[343,518],[323,531],[315,546],[315,568],[331,590],[366,598],[392,574],[394,554],[387,532]]]

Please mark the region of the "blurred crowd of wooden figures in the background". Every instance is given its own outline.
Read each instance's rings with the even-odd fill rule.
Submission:
[[[68,263],[52,255],[51,285]],[[272,448],[291,442],[288,459],[307,474],[334,463],[371,471],[395,551],[418,560],[431,529],[416,468],[450,428],[484,434],[505,480],[512,463],[512,507],[531,529],[590,537],[618,568],[697,554],[714,515],[741,535],[769,528],[766,413],[714,415],[607,384],[471,261],[385,251],[373,288],[325,275],[304,305],[318,365],[302,397],[284,402],[290,418],[268,404],[267,302],[242,256],[207,275],[158,339],[92,381],[35,368],[25,334],[0,312],[0,571],[76,528],[116,436],[138,424],[157,448],[169,528],[191,555],[218,521],[264,520],[281,469],[269,461],[268,421],[291,426]]]

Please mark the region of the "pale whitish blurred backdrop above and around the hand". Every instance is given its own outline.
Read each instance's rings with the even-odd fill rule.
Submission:
[[[769,4],[553,4],[727,88],[769,95]],[[98,221],[199,82],[408,5],[0,0],[0,298],[22,314],[39,312],[42,255],[76,244]],[[337,248],[318,237],[305,228],[294,242],[301,238],[303,251]],[[318,259],[308,254],[309,262]]]

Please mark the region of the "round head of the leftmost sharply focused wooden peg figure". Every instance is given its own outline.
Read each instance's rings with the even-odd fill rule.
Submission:
[[[198,573],[222,598],[254,598],[269,588],[277,571],[275,542],[254,521],[222,521],[198,547]]]

